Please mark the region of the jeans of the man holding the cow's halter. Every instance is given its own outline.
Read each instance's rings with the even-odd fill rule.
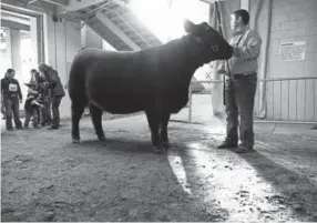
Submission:
[[[227,141],[238,141],[238,115],[241,118],[239,138],[244,145],[254,146],[253,110],[257,85],[257,75],[233,75],[226,80],[225,107],[227,115]]]

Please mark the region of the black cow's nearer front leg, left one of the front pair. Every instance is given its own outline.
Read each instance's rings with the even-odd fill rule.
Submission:
[[[153,150],[155,152],[165,152],[161,135],[158,134],[160,124],[161,124],[161,115],[160,112],[156,110],[145,111],[149,126],[151,129],[151,139]]]

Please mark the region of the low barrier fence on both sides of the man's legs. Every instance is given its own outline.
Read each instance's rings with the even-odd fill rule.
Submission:
[[[201,90],[196,90],[197,84]],[[223,103],[223,81],[192,82],[187,107],[173,114],[171,120],[211,121],[214,116],[212,95],[215,92],[219,94],[218,103]],[[254,116],[255,122],[317,123],[317,78],[258,80]]]

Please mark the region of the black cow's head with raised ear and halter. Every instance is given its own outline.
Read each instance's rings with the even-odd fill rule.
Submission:
[[[233,48],[206,22],[194,24],[193,22],[185,20],[184,28],[196,41],[195,45],[197,45],[202,55],[204,55],[204,62],[224,60],[232,57]]]

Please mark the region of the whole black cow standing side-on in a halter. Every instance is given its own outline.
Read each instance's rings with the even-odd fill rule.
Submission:
[[[102,112],[145,111],[155,151],[168,148],[167,124],[188,102],[191,79],[197,68],[229,59],[232,47],[206,22],[184,22],[186,36],[135,52],[83,49],[69,78],[72,140],[80,142],[79,122],[89,104],[99,140],[104,141]],[[160,132],[161,129],[161,132]]]

